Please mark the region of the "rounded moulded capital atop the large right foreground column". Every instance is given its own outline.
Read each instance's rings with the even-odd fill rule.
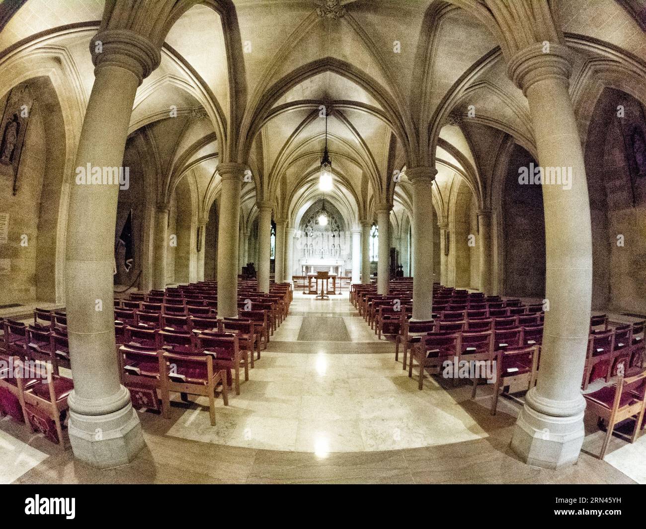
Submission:
[[[548,53],[543,49],[542,44],[536,43],[517,51],[508,61],[507,75],[525,95],[534,83],[545,79],[559,79],[569,84],[570,50],[560,44],[551,44]]]

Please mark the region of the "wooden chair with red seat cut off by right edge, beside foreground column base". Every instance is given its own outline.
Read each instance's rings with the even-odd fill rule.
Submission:
[[[612,386],[587,393],[583,398],[587,402],[587,410],[607,423],[606,437],[599,453],[599,459],[603,459],[612,431],[623,420],[635,418],[630,442],[637,440],[646,406],[646,371],[630,377],[620,377]]]

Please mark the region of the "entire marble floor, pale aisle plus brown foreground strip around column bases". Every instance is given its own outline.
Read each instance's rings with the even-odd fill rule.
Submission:
[[[641,448],[613,438],[599,461],[590,424],[576,466],[527,466],[508,447],[517,402],[491,417],[489,387],[470,400],[470,387],[426,377],[419,391],[393,351],[347,293],[297,292],[241,394],[218,401],[216,426],[201,399],[176,398],[170,420],[140,411],[147,448],[99,471],[0,420],[0,482],[643,482],[627,461],[646,436]]]

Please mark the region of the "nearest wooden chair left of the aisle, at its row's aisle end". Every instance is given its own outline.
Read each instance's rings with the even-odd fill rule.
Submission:
[[[169,419],[171,391],[209,398],[211,426],[215,426],[215,389],[222,384],[222,400],[229,405],[229,395],[224,369],[214,371],[211,355],[183,356],[163,353],[160,357],[160,383],[162,413]]]

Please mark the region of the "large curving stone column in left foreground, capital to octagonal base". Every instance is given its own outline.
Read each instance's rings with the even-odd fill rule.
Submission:
[[[96,41],[103,50],[94,53]],[[100,32],[90,43],[94,85],[76,167],[121,167],[137,88],[160,63],[145,37]],[[144,446],[129,391],[121,386],[114,338],[112,269],[119,185],[72,177],[67,223],[67,323],[74,376],[68,397],[74,455],[99,468],[126,464]],[[76,183],[76,185],[75,185]]]

